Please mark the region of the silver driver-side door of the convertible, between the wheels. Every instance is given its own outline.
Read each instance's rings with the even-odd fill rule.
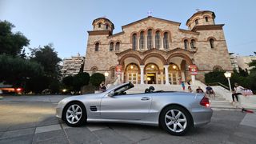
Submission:
[[[119,94],[105,96],[101,102],[101,117],[106,119],[139,120],[149,114],[151,94]]]

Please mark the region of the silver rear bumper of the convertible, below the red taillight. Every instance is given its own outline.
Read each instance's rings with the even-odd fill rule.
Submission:
[[[210,107],[202,106],[201,108],[192,110],[191,114],[194,120],[194,126],[202,126],[210,122],[213,110]]]

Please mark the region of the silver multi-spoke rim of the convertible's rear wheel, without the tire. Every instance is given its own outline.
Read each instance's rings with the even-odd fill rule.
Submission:
[[[165,122],[168,129],[175,133],[182,132],[187,126],[186,116],[180,110],[169,110],[166,113]]]

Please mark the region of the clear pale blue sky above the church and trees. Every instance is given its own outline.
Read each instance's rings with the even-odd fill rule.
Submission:
[[[223,27],[229,52],[254,55],[256,51],[255,0],[0,0],[0,20],[14,24],[30,39],[30,48],[54,44],[59,58],[86,55],[88,30],[96,18],[114,23],[114,34],[130,22],[152,16],[181,22],[196,10],[214,11],[216,24]],[[26,52],[29,50],[26,49]]]

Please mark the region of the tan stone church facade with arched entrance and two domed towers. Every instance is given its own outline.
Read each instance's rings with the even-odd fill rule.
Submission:
[[[107,71],[108,81],[114,82],[114,67],[121,65],[123,82],[154,84],[189,80],[192,64],[198,66],[196,78],[201,81],[215,68],[231,71],[224,25],[216,25],[214,18],[214,12],[198,11],[186,22],[189,30],[182,30],[179,22],[149,16],[122,26],[118,34],[112,34],[109,19],[97,18],[94,30],[88,31],[84,71]],[[134,66],[136,70],[130,69]]]

